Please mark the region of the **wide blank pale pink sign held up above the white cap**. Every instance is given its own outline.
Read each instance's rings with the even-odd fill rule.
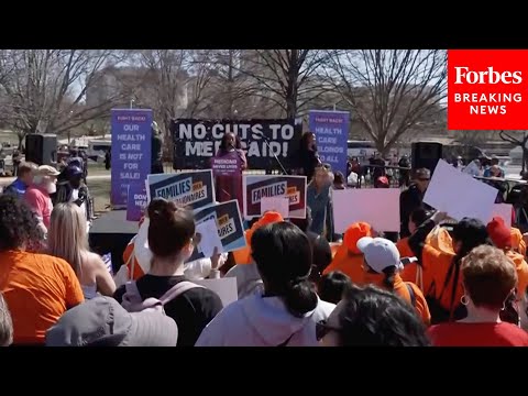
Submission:
[[[350,188],[332,191],[337,233],[364,221],[376,231],[399,232],[398,188]]]

